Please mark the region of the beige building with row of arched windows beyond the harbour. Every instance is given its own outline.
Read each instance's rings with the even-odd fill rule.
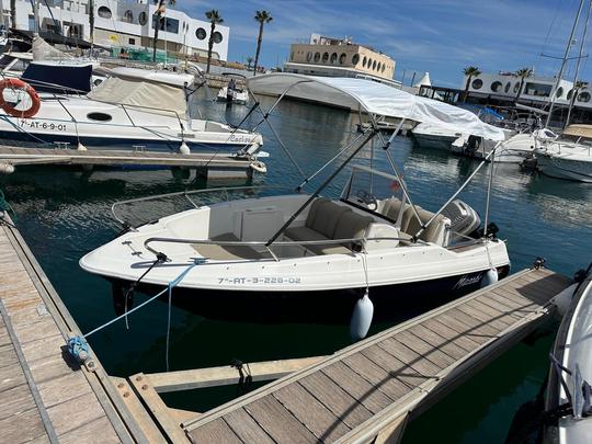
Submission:
[[[386,54],[353,43],[350,38],[312,34],[309,43],[291,46],[286,72],[325,77],[365,77],[387,83],[392,80],[395,60]]]

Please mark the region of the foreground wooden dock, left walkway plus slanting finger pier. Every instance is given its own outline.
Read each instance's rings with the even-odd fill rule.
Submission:
[[[230,366],[110,377],[65,350],[76,322],[0,224],[0,442],[386,442],[545,322],[567,277],[525,270],[330,356],[249,363],[276,379],[205,413],[160,392],[237,384]],[[371,292],[372,296],[372,292]]]

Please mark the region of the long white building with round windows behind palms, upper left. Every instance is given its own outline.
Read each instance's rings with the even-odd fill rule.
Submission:
[[[30,0],[16,1],[16,29],[34,31]],[[39,2],[42,31],[60,31],[62,35],[90,41],[89,0],[47,0]],[[3,20],[10,24],[10,1],[2,0]],[[157,7],[147,0],[94,0],[94,43],[103,46],[152,47]],[[53,15],[53,16],[52,16]],[[192,55],[207,55],[209,22],[192,19],[167,8],[158,35],[158,48]],[[216,25],[213,57],[228,57],[229,27]]]

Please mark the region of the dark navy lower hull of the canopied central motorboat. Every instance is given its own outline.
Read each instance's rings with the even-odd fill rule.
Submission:
[[[505,277],[509,271],[510,265],[500,267],[499,277]],[[402,320],[474,292],[481,286],[486,272],[487,270],[481,270],[429,281],[371,287],[374,321]],[[107,280],[113,284],[115,311],[121,314],[125,306],[123,295],[132,282]],[[140,283],[136,288],[145,295],[152,296],[166,287]],[[364,287],[311,292],[255,292],[178,286],[172,292],[172,303],[177,307],[210,319],[262,323],[348,323],[355,303],[364,292]],[[168,294],[162,296],[162,300],[168,300]]]

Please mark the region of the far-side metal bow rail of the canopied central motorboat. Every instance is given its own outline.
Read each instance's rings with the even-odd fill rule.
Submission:
[[[162,201],[167,198],[178,197],[182,196],[184,197],[195,209],[200,209],[203,205],[200,205],[196,203],[191,196],[194,195],[204,195],[204,194],[212,194],[212,193],[224,193],[225,200],[223,202],[230,202],[230,193],[235,192],[258,192],[258,191],[289,191],[294,194],[299,194],[298,191],[294,190],[293,187],[288,186],[274,186],[274,185],[244,185],[244,186],[218,186],[214,189],[204,189],[204,190],[185,190],[185,191],[179,191],[173,193],[164,193],[164,194],[156,194],[152,196],[145,196],[145,197],[136,197],[136,198],[128,198],[126,201],[118,201],[115,202],[113,205],[111,205],[111,214],[113,215],[113,218],[118,221],[122,226],[125,228],[136,231],[137,227],[134,227],[129,221],[124,219],[124,216],[122,216],[118,213],[118,209],[124,205],[132,205],[137,204],[141,202],[150,202],[150,201]]]

